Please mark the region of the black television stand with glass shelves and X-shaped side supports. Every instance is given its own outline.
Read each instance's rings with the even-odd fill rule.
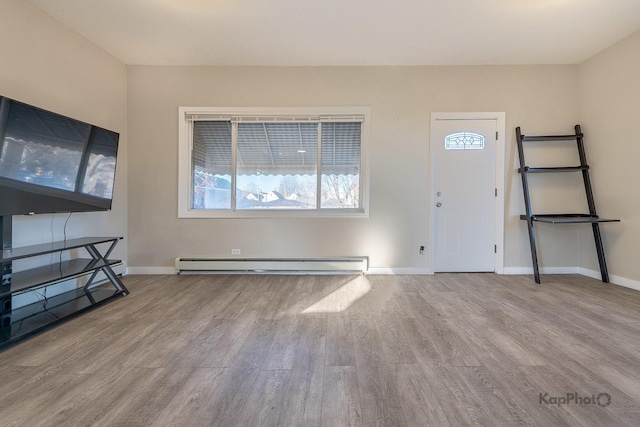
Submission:
[[[0,217],[3,250],[0,257],[2,265],[2,283],[0,284],[0,348],[34,334],[54,323],[68,319],[116,297],[129,293],[113,266],[122,263],[109,259],[109,255],[122,237],[82,237],[66,241],[43,243],[21,248],[12,248],[11,227],[7,226],[11,217]],[[7,234],[9,236],[7,237]],[[108,245],[104,252],[97,245]],[[84,249],[89,257],[73,258],[29,270],[13,272],[14,261],[41,255],[60,254],[62,252]],[[106,281],[95,283],[98,274],[103,273]],[[70,279],[88,276],[83,287],[44,297],[43,288]],[[42,290],[39,292],[39,290]],[[16,295],[37,292],[38,301],[18,307],[12,307]]]

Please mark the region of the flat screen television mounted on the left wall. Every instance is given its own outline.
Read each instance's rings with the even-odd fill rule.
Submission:
[[[0,215],[110,210],[119,137],[0,96]]]

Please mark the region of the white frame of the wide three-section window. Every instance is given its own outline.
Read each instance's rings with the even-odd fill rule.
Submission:
[[[318,117],[344,120],[358,116],[362,120],[360,139],[360,208],[315,209],[193,209],[191,203],[193,189],[192,156],[193,126],[190,118],[198,116],[210,120],[224,120],[226,117],[243,117],[256,121],[317,121]],[[326,120],[325,121],[329,121]],[[369,217],[369,145],[371,141],[371,107],[292,107],[292,108],[250,108],[250,107],[179,107],[178,108],[178,218],[368,218]],[[236,150],[232,148],[232,170],[235,171]],[[318,149],[320,150],[320,146]],[[318,165],[321,172],[321,165]],[[321,173],[317,174],[318,182]],[[235,190],[232,179],[232,192]],[[232,197],[234,195],[232,194]]]

